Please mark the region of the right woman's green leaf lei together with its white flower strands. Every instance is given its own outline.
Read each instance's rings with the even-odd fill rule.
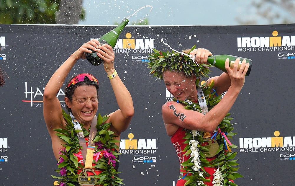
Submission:
[[[196,81],[197,86],[198,84],[199,80]],[[211,110],[215,105],[217,105],[217,103],[219,103],[221,99],[221,95],[214,97],[213,94],[215,94],[215,92],[211,93],[213,86],[214,81],[212,81],[208,87],[206,87],[205,84],[200,86],[204,92],[206,102],[208,103],[208,110]],[[173,101],[177,100],[173,99]],[[185,106],[185,109],[202,112],[199,103],[179,100],[178,102],[183,104]],[[236,186],[237,184],[232,182],[232,180],[243,177],[241,174],[237,173],[239,167],[236,166],[238,166],[239,164],[236,163],[237,159],[234,159],[237,155],[237,152],[231,152],[230,150],[230,148],[237,148],[237,146],[230,143],[228,140],[228,138],[232,139],[232,136],[236,135],[236,133],[232,132],[232,130],[234,129],[233,125],[235,125],[236,123],[231,124],[230,121],[233,118],[230,118],[229,116],[230,113],[228,113],[224,117],[224,119],[219,123],[218,127],[214,131],[215,134],[212,138],[214,138],[218,142],[219,149],[216,155],[217,158],[210,162],[205,157],[205,154],[209,151],[209,147],[201,145],[205,141],[203,138],[204,132],[184,129],[186,130],[186,136],[183,139],[186,140],[184,143],[186,143],[187,146],[185,149],[183,149],[183,151],[187,151],[185,155],[190,155],[190,159],[183,162],[182,165],[187,173],[191,173],[191,175],[187,174],[182,178],[187,181],[185,184],[186,186],[206,186],[204,182],[210,182],[209,179],[205,178],[209,177],[209,174],[204,171],[204,167],[217,168],[216,172],[213,174],[214,179],[212,183],[214,184],[214,186]]]

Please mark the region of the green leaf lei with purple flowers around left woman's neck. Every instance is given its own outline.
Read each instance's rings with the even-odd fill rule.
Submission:
[[[74,155],[78,154],[81,148],[77,137],[77,133],[81,132],[81,130],[75,130],[71,117],[64,110],[63,117],[67,121],[65,129],[55,129],[58,132],[56,135],[66,142],[63,145],[63,150],[60,150],[59,153],[59,169],[55,170],[61,176],[56,177],[52,175],[52,177],[60,180],[58,181],[60,186],[75,186],[73,183],[78,183],[78,170],[83,170],[82,164],[78,162],[78,157]],[[122,179],[115,176],[115,174],[119,174],[120,172],[117,172],[114,168],[116,162],[119,162],[118,155],[120,153],[114,151],[114,149],[119,148],[116,145],[119,141],[114,139],[117,137],[114,135],[114,132],[108,130],[111,123],[104,123],[108,118],[106,115],[101,116],[100,114],[97,117],[97,133],[93,140],[95,142],[94,156],[96,156],[96,160],[93,163],[96,164],[94,169],[102,172],[94,176],[99,179],[95,185],[117,186],[123,184]],[[84,136],[88,137],[89,131],[83,128],[83,124],[81,124],[81,127]]]

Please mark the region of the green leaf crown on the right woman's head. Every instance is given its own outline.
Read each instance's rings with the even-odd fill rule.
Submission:
[[[195,48],[196,45],[189,50],[189,53]],[[208,77],[210,72],[209,67],[211,67],[209,64],[195,63],[189,55],[184,55],[184,53],[173,50],[172,52],[153,50],[154,53],[148,57],[148,68],[150,68],[150,74],[153,74],[156,78],[163,79],[162,73],[166,70],[183,71],[186,76]]]

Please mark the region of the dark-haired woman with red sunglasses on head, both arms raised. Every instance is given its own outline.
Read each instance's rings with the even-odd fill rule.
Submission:
[[[91,74],[79,74],[66,84],[64,112],[56,97],[78,59],[92,51],[104,60],[119,109],[96,116],[99,83]],[[114,68],[114,51],[97,40],[84,43],[52,75],[43,96],[43,114],[58,160],[60,179],[55,185],[118,185],[117,174],[120,134],[134,115],[131,95]],[[117,164],[116,164],[117,163]]]

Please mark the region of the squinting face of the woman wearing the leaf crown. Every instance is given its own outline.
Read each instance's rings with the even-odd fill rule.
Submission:
[[[187,77],[183,72],[163,72],[163,80],[167,90],[178,100],[187,98],[197,101],[196,76]]]

